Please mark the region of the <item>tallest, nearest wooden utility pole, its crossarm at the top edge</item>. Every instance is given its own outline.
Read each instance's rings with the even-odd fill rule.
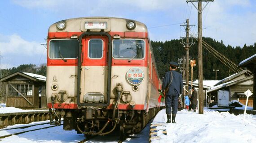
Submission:
[[[186,0],[187,3],[198,2],[198,76],[199,76],[199,114],[203,114],[203,48],[202,48],[202,12],[203,9],[209,4],[210,1],[214,0]],[[202,9],[202,1],[207,2],[207,4]]]

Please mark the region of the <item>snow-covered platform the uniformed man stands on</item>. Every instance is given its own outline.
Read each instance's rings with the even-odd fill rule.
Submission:
[[[203,114],[181,110],[177,124],[165,122],[167,116],[162,109],[150,126],[151,143],[256,143],[256,115],[252,114],[246,114],[243,124],[243,114],[207,108]]]

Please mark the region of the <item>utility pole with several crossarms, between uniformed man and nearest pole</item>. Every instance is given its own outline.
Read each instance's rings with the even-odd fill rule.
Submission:
[[[186,26],[186,37],[181,37],[182,38],[182,41],[181,41],[181,44],[183,44],[183,46],[185,47],[185,50],[186,50],[186,93],[185,95],[188,94],[188,91],[189,91],[189,48],[190,46],[192,46],[194,44],[193,42],[193,39],[192,39],[192,42],[189,42],[189,35],[190,35],[190,26],[194,26],[194,25],[190,25],[190,20],[187,19],[186,20],[186,25],[181,25],[181,26]],[[186,42],[183,42],[183,38],[186,38]]]

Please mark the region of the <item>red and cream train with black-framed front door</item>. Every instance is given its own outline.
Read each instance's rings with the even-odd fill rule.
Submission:
[[[159,111],[161,81],[146,25],[114,17],[67,19],[49,27],[51,121],[85,135],[137,133]],[[164,106],[164,103],[160,103]]]

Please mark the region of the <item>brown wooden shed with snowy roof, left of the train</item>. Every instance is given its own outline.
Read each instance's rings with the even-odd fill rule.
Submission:
[[[6,82],[6,107],[47,108],[46,77],[16,72],[2,78]]]

